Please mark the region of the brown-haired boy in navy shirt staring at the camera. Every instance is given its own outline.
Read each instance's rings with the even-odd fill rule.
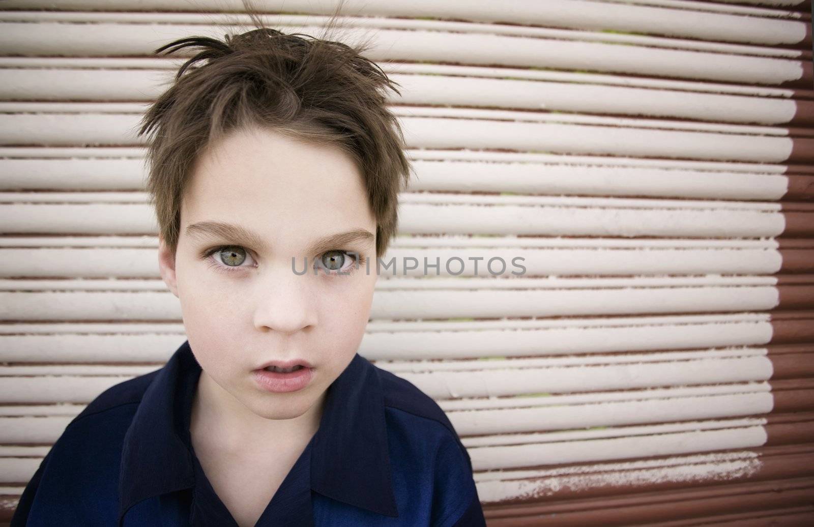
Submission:
[[[187,341],[72,420],[11,525],[485,525],[444,412],[356,352],[409,178],[394,83],[269,28],[156,52],[186,46],[140,133]]]

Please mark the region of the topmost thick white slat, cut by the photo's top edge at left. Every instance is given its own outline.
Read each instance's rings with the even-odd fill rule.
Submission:
[[[764,0],[762,3],[767,2]],[[34,0],[33,2],[20,2],[18,0],[7,2],[7,5],[18,9],[37,9],[37,7],[54,9],[56,7],[56,9],[60,10],[103,10],[107,7],[107,3],[103,2],[103,0],[74,0],[59,2],[56,6],[53,2],[45,2],[44,0]],[[699,5],[699,2],[681,2],[678,6],[683,7],[681,15],[676,15],[676,12],[672,9],[663,7],[619,5],[613,2],[583,2],[581,0],[560,0],[558,2],[536,2],[531,4],[518,0],[509,0],[508,2],[501,2],[500,5],[492,2],[378,0],[374,2],[347,2],[347,6],[344,7],[342,12],[356,14],[363,9],[365,15],[368,16],[392,17],[374,20],[372,24],[376,24],[377,27],[397,27],[396,24],[405,24],[407,22],[413,24],[425,22],[424,26],[419,27],[440,26],[446,28],[449,25],[449,23],[434,21],[431,26],[431,24],[426,24],[426,20],[409,20],[413,17],[421,17],[422,19],[509,22],[515,25],[522,24],[523,26],[533,24],[557,28],[614,31],[617,33],[651,33],[670,37],[689,37],[702,41],[748,42],[768,46],[796,44],[803,41],[806,35],[805,26],[802,22],[768,18],[770,16],[776,19],[799,18],[799,15],[790,12],[758,7],[729,7],[729,9],[717,7],[717,11],[723,12],[715,13],[710,12],[710,7],[703,4]],[[264,2],[262,7],[265,11],[272,12],[288,11],[315,15],[326,14],[324,7],[304,0]],[[179,5],[178,2],[165,0],[164,2],[150,2],[150,4],[145,2],[120,2],[119,8],[130,11],[129,15],[132,17],[132,11],[240,11],[243,9],[243,5],[234,0],[227,2],[204,0],[195,3],[194,6],[184,3]],[[63,17],[65,15],[67,14],[55,14],[55,16]],[[94,14],[83,13],[83,15],[90,18]],[[106,15],[113,14],[106,13]],[[157,17],[158,14],[151,13],[150,15]],[[127,20],[125,16],[120,15],[120,18]],[[186,17],[189,18],[189,15],[186,15]],[[291,24],[302,18],[291,15],[276,15],[275,21],[279,20],[280,24]],[[310,16],[309,20],[313,21],[315,18],[317,17]],[[365,22],[365,20],[350,18],[345,21],[345,24],[361,25],[365,24]],[[370,22],[365,25],[369,24]],[[456,24],[453,28],[460,28],[462,25],[464,24]],[[487,28],[492,31],[503,29],[498,24],[488,24]],[[514,30],[517,31],[518,29],[515,28]]]

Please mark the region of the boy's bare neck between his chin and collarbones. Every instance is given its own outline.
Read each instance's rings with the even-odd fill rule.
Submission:
[[[192,403],[190,436],[194,445],[206,443],[209,448],[234,453],[299,447],[317,432],[325,398],[323,392],[299,417],[266,419],[249,410],[202,370]],[[269,442],[269,438],[274,441]]]

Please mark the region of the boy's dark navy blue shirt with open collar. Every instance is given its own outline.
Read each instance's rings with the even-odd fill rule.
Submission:
[[[42,460],[11,527],[236,527],[190,440],[200,372],[187,341],[163,368],[100,394]],[[356,354],[256,523],[277,525],[486,524],[470,457],[444,412]]]

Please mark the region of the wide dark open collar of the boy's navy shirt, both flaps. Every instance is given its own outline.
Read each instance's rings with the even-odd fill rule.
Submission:
[[[125,433],[119,525],[136,503],[195,485],[187,444],[191,399],[200,372],[185,341],[144,392]],[[382,385],[374,365],[358,353],[328,386],[319,429],[309,445],[312,490],[355,507],[398,516]]]

